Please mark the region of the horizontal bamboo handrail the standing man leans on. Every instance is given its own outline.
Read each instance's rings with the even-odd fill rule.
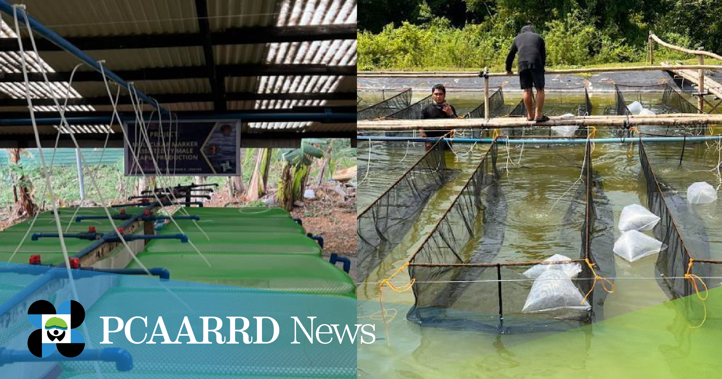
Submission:
[[[626,67],[591,67],[587,69],[565,69],[565,70],[546,70],[544,74],[586,74],[590,72],[620,72],[620,71],[654,71],[654,70],[722,70],[722,65],[707,64],[700,65],[669,65],[669,66],[626,66]],[[514,77],[517,74],[507,74],[505,72],[490,72],[490,77]],[[478,71],[362,71],[357,73],[357,77],[362,78],[471,78],[479,77]]]

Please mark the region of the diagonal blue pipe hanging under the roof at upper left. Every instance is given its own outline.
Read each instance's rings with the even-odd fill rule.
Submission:
[[[8,14],[10,17],[14,17],[13,6],[6,0],[0,0],[0,11]],[[23,10],[22,12],[25,12],[25,10]],[[18,12],[17,20],[19,23],[25,24],[25,17],[22,16],[22,12]],[[84,64],[92,67],[92,69],[94,69],[95,71],[105,72],[106,77],[113,80],[113,82],[118,83],[118,85],[121,85],[126,90],[130,91],[130,86],[125,80],[121,79],[121,77],[118,77],[118,75],[116,75],[113,71],[110,71],[108,69],[105,69],[103,66],[100,66],[100,64],[98,64],[95,59],[91,58],[86,53],[83,53],[79,48],[75,47],[72,43],[69,43],[68,40],[58,35],[58,33],[53,32],[53,30],[45,27],[45,25],[38,22],[38,20],[30,17],[30,14],[27,14],[27,22],[30,23],[30,28],[32,30],[34,30],[39,35],[42,35],[46,40],[51,41],[55,45],[58,45],[59,48],[80,59],[84,62]],[[135,92],[137,93],[138,97],[143,99],[146,103],[148,103],[148,105],[157,109],[159,112],[167,114],[170,113],[165,108],[160,107],[160,105],[158,105],[158,102],[155,99],[152,99],[148,95],[145,95],[143,92],[140,92],[138,90],[135,90]]]

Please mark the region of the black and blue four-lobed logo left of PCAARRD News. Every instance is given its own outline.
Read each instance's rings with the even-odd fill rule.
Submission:
[[[77,357],[85,348],[85,339],[75,330],[85,320],[85,309],[75,300],[63,302],[58,309],[47,300],[38,300],[27,308],[27,319],[38,328],[27,337],[27,349],[35,357],[48,357],[58,349],[65,357]]]

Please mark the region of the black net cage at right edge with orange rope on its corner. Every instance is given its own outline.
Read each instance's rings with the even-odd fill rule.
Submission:
[[[719,305],[705,304],[696,295],[706,289],[719,287],[722,261],[710,259],[705,236],[695,236],[689,240],[683,236],[677,219],[689,219],[695,211],[681,196],[675,194],[674,189],[658,180],[649,162],[645,144],[640,140],[638,146],[648,209],[660,217],[653,230],[654,236],[666,245],[666,249],[658,253],[656,261],[660,287],[672,300],[686,298],[687,301],[677,304],[684,305],[685,315],[690,322],[700,323],[712,318],[719,320],[722,311]]]

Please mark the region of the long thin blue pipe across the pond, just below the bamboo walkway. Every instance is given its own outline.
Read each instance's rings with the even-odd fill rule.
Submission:
[[[386,136],[357,136],[356,139],[363,141],[412,141],[412,142],[434,142],[438,141],[438,138],[423,138],[423,137],[386,137]],[[692,136],[692,137],[642,137],[642,141],[645,142],[682,142],[682,141],[718,141],[722,139],[722,136]],[[491,138],[445,138],[446,141],[461,143],[461,144],[490,144],[494,139]],[[505,144],[509,141],[510,144],[586,144],[584,138],[557,138],[557,139],[543,139],[543,138],[525,138],[525,139],[506,139],[505,137],[499,137],[497,142]],[[595,138],[591,139],[595,144],[621,144],[625,142],[639,141],[639,137],[627,137],[627,138]]]

